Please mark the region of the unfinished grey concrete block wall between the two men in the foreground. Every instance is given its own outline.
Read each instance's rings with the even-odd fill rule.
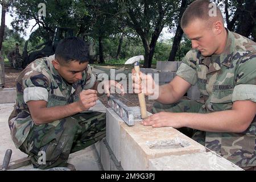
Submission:
[[[106,125],[95,144],[105,170],[242,170],[172,127],[127,126],[110,108]]]

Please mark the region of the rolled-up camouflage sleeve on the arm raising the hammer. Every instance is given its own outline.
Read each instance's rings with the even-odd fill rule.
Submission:
[[[182,63],[180,64],[179,69],[177,69],[176,75],[189,82],[189,84],[195,85],[197,82],[196,65],[192,65],[191,61],[189,61],[193,59],[192,54],[192,51],[189,51],[186,54],[182,60]]]

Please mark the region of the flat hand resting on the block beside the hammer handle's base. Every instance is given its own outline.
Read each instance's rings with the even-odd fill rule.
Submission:
[[[144,126],[164,127],[171,126],[175,129],[183,127],[180,113],[160,112],[152,114],[142,121]]]

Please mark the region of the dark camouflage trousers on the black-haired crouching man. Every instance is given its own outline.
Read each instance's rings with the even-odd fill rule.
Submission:
[[[105,129],[105,113],[79,113],[52,123],[32,126],[19,149],[31,156],[35,168],[65,167],[69,154],[104,138]]]

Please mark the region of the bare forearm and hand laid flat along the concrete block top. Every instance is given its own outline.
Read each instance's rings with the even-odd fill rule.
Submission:
[[[171,126],[176,129],[189,127],[191,129],[218,133],[242,133],[248,129],[255,114],[255,102],[235,101],[231,110],[207,114],[160,112],[150,115],[142,121],[142,124],[152,127]]]

